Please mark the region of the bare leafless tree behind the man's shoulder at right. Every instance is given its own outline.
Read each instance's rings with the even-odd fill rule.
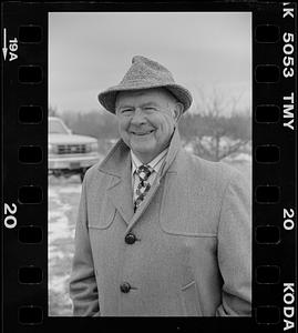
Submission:
[[[185,144],[195,154],[212,161],[239,152],[251,139],[249,112],[239,112],[238,99],[229,101],[214,93],[209,101],[203,99],[199,110],[186,114],[179,123]]]

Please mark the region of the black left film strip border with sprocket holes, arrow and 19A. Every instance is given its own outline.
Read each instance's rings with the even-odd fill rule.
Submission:
[[[2,331],[45,331],[47,14],[33,3],[2,11]]]

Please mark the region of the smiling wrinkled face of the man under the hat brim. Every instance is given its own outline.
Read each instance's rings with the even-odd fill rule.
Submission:
[[[136,157],[148,163],[169,143],[183,104],[163,88],[120,92],[119,131]]]

